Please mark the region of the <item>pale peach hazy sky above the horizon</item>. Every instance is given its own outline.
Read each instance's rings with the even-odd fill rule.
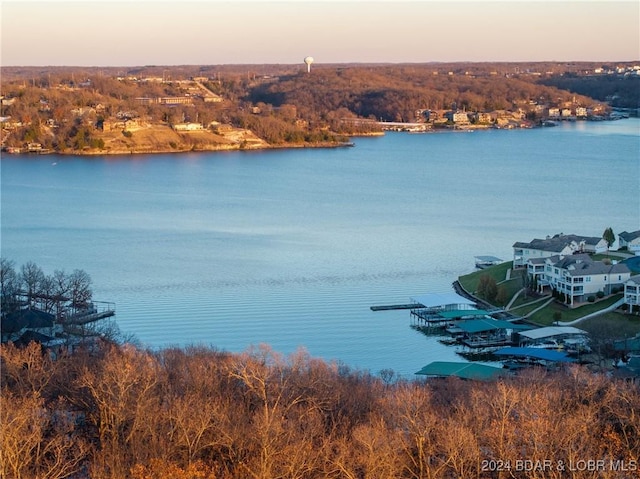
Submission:
[[[2,66],[640,60],[638,0],[0,0]]]

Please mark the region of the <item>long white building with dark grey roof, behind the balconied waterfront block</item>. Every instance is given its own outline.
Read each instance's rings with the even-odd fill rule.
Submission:
[[[608,249],[603,238],[559,233],[545,239],[534,239],[528,243],[518,241],[513,244],[513,267],[525,268],[530,259],[548,258],[553,255],[575,253],[604,253]]]

